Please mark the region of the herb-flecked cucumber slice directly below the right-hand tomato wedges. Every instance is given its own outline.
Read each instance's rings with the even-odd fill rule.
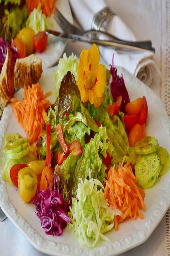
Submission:
[[[158,140],[154,137],[147,136],[136,143],[135,151],[138,155],[146,155],[156,152],[158,147]]]

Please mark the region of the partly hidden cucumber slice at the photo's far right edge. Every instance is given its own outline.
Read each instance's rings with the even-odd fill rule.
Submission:
[[[160,163],[162,166],[162,169],[160,170],[159,174],[163,175],[170,169],[170,157],[166,148],[162,148],[162,147],[158,148],[157,154],[159,156]]]

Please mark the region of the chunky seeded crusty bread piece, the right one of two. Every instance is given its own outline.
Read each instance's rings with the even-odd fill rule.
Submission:
[[[17,59],[14,68],[15,89],[38,83],[41,73],[41,59],[34,54],[23,59]]]

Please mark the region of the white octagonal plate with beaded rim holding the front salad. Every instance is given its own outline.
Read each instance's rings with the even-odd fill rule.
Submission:
[[[53,69],[55,68],[44,70],[39,81],[45,92],[53,91],[55,84],[52,76]],[[147,135],[155,136],[159,144],[167,148],[170,153],[169,119],[161,100],[150,88],[125,69],[118,68],[118,73],[124,75],[131,100],[145,95],[149,109],[146,125]],[[16,96],[22,98],[23,90],[20,90]],[[53,95],[51,100],[54,101]],[[19,132],[24,135],[15,119],[11,105],[4,109],[0,122],[0,156],[2,163],[5,161],[2,154],[3,139],[7,132]],[[24,203],[19,196],[18,189],[15,187],[6,185],[4,181],[1,181],[0,184],[0,206],[7,217],[35,248],[50,255],[118,255],[145,242],[170,207],[170,172],[159,178],[152,188],[146,190],[145,205],[145,219],[137,218],[137,220],[128,220],[120,224],[118,231],[112,230],[107,233],[113,243],[106,243],[101,240],[96,248],[88,249],[79,245],[76,236],[69,228],[64,229],[63,235],[59,237],[46,235],[34,212],[35,206]]]

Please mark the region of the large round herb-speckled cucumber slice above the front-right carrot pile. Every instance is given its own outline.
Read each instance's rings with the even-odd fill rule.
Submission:
[[[150,188],[159,176],[161,163],[158,154],[151,153],[138,156],[135,164],[135,175],[141,188]]]

